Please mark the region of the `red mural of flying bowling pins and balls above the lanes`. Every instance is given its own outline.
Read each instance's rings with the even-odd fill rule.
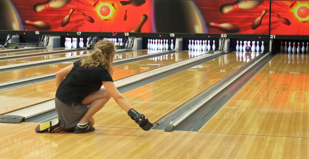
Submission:
[[[0,30],[309,35],[309,1],[7,0]]]

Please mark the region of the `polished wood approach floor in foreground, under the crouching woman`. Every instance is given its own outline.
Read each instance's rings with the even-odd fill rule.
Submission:
[[[308,138],[98,126],[84,134],[39,134],[36,125],[0,123],[1,158],[305,159],[309,149]]]

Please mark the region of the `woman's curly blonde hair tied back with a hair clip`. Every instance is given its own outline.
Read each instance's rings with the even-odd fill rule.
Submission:
[[[116,46],[112,41],[100,40],[95,44],[95,49],[90,56],[82,56],[81,66],[95,68],[101,65],[112,75],[115,54]]]

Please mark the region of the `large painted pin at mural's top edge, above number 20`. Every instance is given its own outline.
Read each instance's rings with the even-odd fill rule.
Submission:
[[[252,9],[260,5],[263,1],[237,1],[231,4],[220,6],[220,12],[225,14],[234,9]]]

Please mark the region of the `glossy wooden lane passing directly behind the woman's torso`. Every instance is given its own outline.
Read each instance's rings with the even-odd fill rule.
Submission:
[[[133,55],[142,54],[137,53],[135,51],[129,52]],[[147,53],[147,51],[146,51]],[[125,55],[125,54],[124,54]],[[177,52],[177,53],[171,53],[168,55],[158,56],[151,59],[145,59],[141,61],[131,62],[127,64],[117,65],[115,67],[115,71],[113,73],[113,80],[118,80],[120,78],[128,77],[134,74],[138,74],[141,72],[145,72],[151,69],[156,69],[159,67],[162,67],[164,65],[169,65],[178,61],[183,61],[188,59],[188,51],[183,52]],[[62,65],[62,68],[66,65],[72,64],[74,61],[71,61],[70,63],[66,62],[66,64]],[[45,69],[57,72],[61,68],[53,68],[50,67],[51,65],[46,65]],[[53,65],[52,65],[53,66]],[[56,64],[54,64],[56,67]],[[47,71],[48,71],[47,70]],[[10,71],[11,72],[11,71]],[[44,71],[42,71],[44,72]],[[48,72],[45,72],[48,73]],[[41,82],[36,83],[29,86],[19,87],[11,90],[5,90],[0,92],[0,108],[3,108],[0,110],[0,114],[5,113],[7,111],[12,111],[16,109],[20,109],[23,107],[27,107],[29,105],[33,105],[36,103],[41,103],[50,99],[55,98],[56,93],[56,87],[55,87],[55,80],[47,81],[47,82]],[[14,101],[14,102],[13,102]]]

